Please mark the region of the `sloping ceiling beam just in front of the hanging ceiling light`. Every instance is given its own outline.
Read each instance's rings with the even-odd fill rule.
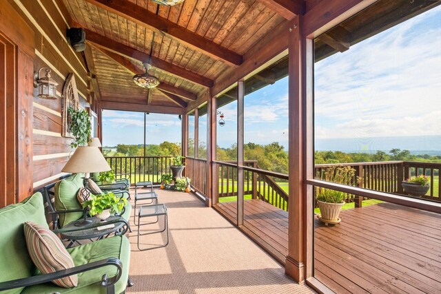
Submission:
[[[212,87],[213,80],[202,76],[201,74],[196,74],[190,70],[185,70],[185,68],[180,67],[178,65],[174,65],[173,63],[168,63],[167,61],[163,61],[162,59],[158,59],[155,56],[150,56],[145,52],[141,52],[134,48],[130,48],[123,43],[119,43],[114,41],[106,36],[101,34],[97,34],[96,32],[92,32],[90,30],[84,29],[86,39],[96,45],[99,45],[105,48],[108,51],[115,52],[117,54],[123,55],[126,58],[134,59],[137,61],[149,61],[150,65],[153,67],[157,67],[160,70],[165,72],[170,72],[170,74],[174,74],[179,76],[180,78],[185,78],[188,81],[196,83],[198,85],[203,85],[204,87]]]

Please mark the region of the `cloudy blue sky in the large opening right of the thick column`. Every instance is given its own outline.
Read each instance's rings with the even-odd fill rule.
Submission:
[[[316,63],[317,138],[441,134],[441,25],[426,21],[435,14]]]

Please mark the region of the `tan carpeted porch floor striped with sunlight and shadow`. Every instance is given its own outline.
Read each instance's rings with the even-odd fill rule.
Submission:
[[[313,293],[216,211],[188,193],[157,190],[170,222],[170,244],[140,252],[130,236],[127,293]],[[131,220],[132,223],[132,220]],[[146,226],[145,228],[150,227]],[[147,243],[161,242],[143,237]]]

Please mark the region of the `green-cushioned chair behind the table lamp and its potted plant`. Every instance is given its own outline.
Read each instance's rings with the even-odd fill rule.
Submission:
[[[63,178],[55,184],[44,187],[46,202],[49,204],[49,211],[52,214],[53,229],[63,228],[66,224],[79,220],[83,216],[83,209],[79,204],[76,194],[83,186],[84,174],[72,174],[67,178]],[[52,188],[54,191],[52,192]],[[116,196],[128,198],[130,194],[127,191],[113,191]],[[54,207],[52,207],[51,195],[54,196]],[[70,211],[69,213],[59,213],[59,217],[55,214],[56,211]],[[121,217],[129,220],[130,212],[132,211],[132,204],[127,202]]]

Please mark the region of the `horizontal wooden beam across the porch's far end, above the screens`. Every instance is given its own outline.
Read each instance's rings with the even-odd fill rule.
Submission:
[[[137,104],[137,103],[114,102],[114,101],[106,101],[106,100],[101,101],[101,109],[123,110],[126,112],[152,112],[156,114],[181,114],[181,115],[184,114],[184,109],[182,107],[167,107],[167,106],[157,106],[157,105],[147,105],[147,104]]]

